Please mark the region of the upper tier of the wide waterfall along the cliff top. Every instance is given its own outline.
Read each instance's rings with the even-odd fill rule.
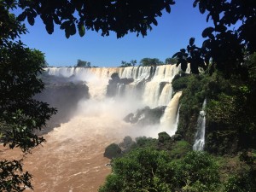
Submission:
[[[119,84],[117,94],[120,96],[140,97],[142,103],[150,108],[166,106],[172,99],[172,79],[180,71],[176,65],[162,65],[157,67],[48,67],[45,72],[49,75],[72,77],[83,80],[90,88],[101,86],[101,96],[96,92],[90,94],[100,97],[106,93],[108,80],[113,73],[118,73],[121,79],[133,79],[131,84]],[[136,89],[140,84],[140,90]],[[105,87],[105,90],[104,88]],[[124,90],[125,94],[123,94]]]

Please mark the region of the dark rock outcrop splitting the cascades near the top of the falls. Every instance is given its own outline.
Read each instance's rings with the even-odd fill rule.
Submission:
[[[113,73],[111,75],[111,79],[108,81],[108,86],[107,86],[107,96],[112,97],[116,96],[119,89],[120,92],[124,91],[124,86],[125,84],[131,84],[134,81],[134,79],[120,79],[118,73]]]

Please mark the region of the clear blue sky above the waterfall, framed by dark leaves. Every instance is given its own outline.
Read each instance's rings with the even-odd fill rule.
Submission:
[[[198,7],[193,8],[194,0],[177,0],[171,14],[163,13],[158,17],[158,26],[153,26],[148,36],[138,37],[129,33],[124,38],[116,38],[115,33],[102,37],[100,33],[87,31],[83,38],[79,34],[66,38],[60,26],[49,35],[42,20],[34,26],[26,25],[29,33],[21,36],[21,41],[30,48],[44,52],[49,66],[74,66],[78,59],[90,61],[92,66],[118,67],[121,61],[137,60],[144,57],[159,58],[165,61],[179,49],[186,48],[189,38],[201,45],[201,32],[210,23],[206,14],[201,15]]]

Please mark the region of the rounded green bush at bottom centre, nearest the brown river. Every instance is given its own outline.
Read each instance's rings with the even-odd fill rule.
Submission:
[[[171,159],[165,151],[139,148],[113,160],[113,174],[99,191],[171,191],[166,167]]]

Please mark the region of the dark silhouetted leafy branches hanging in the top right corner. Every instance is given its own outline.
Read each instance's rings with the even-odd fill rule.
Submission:
[[[256,50],[256,2],[253,0],[195,0],[201,14],[208,13],[207,21],[211,18],[213,26],[202,32],[207,38],[201,47],[195,46],[195,38],[190,38],[187,49],[181,49],[175,55],[177,65],[181,64],[185,71],[188,63],[192,73],[199,73],[198,67],[203,67],[212,73],[216,68],[223,72],[226,78],[231,74],[239,74],[247,78],[247,67],[244,59]],[[235,30],[230,26],[236,25]],[[210,63],[212,60],[212,65]]]

